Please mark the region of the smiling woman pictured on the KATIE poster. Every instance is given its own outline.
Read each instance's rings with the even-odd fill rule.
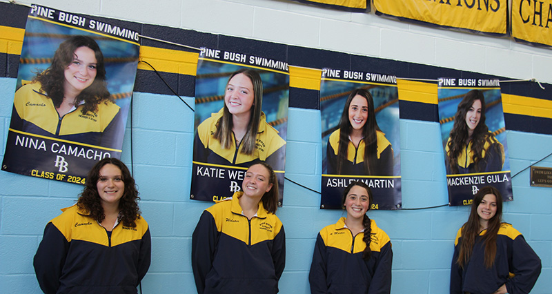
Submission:
[[[286,141],[266,123],[263,84],[255,70],[233,72],[226,84],[224,107],[197,127],[194,161],[250,166],[266,161],[284,170]]]

